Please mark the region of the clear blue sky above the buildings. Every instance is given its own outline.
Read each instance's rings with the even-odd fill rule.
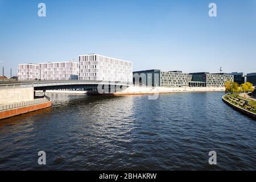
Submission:
[[[133,61],[134,71],[256,72],[256,0],[0,0],[5,75],[86,53]]]

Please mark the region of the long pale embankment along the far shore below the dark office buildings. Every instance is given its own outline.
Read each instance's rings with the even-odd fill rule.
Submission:
[[[116,95],[122,94],[157,94],[157,93],[175,93],[175,92],[223,92],[224,87],[179,87],[179,88],[165,88],[156,87],[149,88],[143,86],[130,86],[129,88],[123,90],[122,92],[116,92]]]

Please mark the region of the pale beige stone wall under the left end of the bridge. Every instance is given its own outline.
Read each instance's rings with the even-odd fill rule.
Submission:
[[[34,100],[34,88],[0,89],[0,105]]]

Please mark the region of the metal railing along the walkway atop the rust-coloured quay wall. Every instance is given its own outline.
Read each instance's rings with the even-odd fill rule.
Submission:
[[[13,104],[0,105],[0,111],[40,104],[40,103],[48,102],[49,100],[50,100],[49,97],[48,98],[45,97],[45,98],[36,98],[33,101],[25,101],[25,102],[13,103]]]

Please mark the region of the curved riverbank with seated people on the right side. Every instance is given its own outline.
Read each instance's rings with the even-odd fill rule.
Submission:
[[[250,101],[248,98],[247,100],[245,99],[242,99],[242,98],[236,98],[236,100],[226,94],[225,96],[222,97],[222,101],[224,101],[226,104],[228,104],[229,106],[233,107],[233,109],[236,109],[237,111],[240,111],[241,113],[251,117],[251,118],[254,118],[256,120],[256,111],[255,110],[248,110],[246,107],[246,104],[245,102],[247,101],[248,103],[250,103],[250,105],[254,105],[256,104],[256,102],[254,103],[254,101]],[[252,103],[253,102],[253,103]]]

